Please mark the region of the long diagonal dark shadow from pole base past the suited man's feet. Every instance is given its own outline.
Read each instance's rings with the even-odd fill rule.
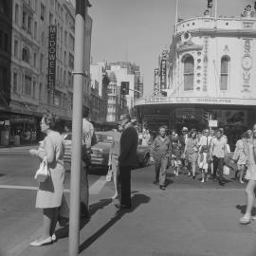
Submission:
[[[95,232],[93,235],[91,235],[89,238],[87,238],[82,245],[80,246],[79,251],[82,252],[87,247],[90,247],[98,238],[101,237],[102,234],[104,234],[108,229],[110,229],[112,226],[117,223],[123,215],[127,213],[131,213],[132,211],[136,210],[137,207],[141,204],[147,204],[150,201],[150,197],[142,194],[142,193],[136,193],[132,197],[132,209],[129,210],[117,210],[115,215],[104,225],[99,229],[97,232]]]

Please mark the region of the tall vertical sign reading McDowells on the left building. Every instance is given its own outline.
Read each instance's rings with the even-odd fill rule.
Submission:
[[[57,44],[57,26],[49,26],[48,39],[48,91],[55,88],[56,77],[56,44]]]

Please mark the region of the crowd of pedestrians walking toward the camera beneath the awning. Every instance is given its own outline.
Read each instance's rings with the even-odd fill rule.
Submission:
[[[233,171],[235,178],[244,183],[247,170],[245,143],[252,137],[248,130],[236,143],[234,154],[230,153],[228,137],[223,128],[196,131],[183,127],[180,135],[172,130],[167,135],[167,127],[161,126],[159,134],[148,145],[151,149],[151,162],[155,164],[154,184],[165,190],[166,170],[172,167],[174,175],[181,172],[195,179],[199,173],[201,182],[209,179],[225,186],[224,172]]]

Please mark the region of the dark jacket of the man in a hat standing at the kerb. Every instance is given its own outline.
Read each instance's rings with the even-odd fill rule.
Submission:
[[[119,166],[137,166],[137,130],[128,126],[120,137]]]

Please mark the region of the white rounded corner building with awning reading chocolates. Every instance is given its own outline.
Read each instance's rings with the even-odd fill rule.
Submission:
[[[165,56],[156,93],[136,102],[139,118],[177,130],[221,126],[233,147],[256,121],[256,17],[180,21]]]

